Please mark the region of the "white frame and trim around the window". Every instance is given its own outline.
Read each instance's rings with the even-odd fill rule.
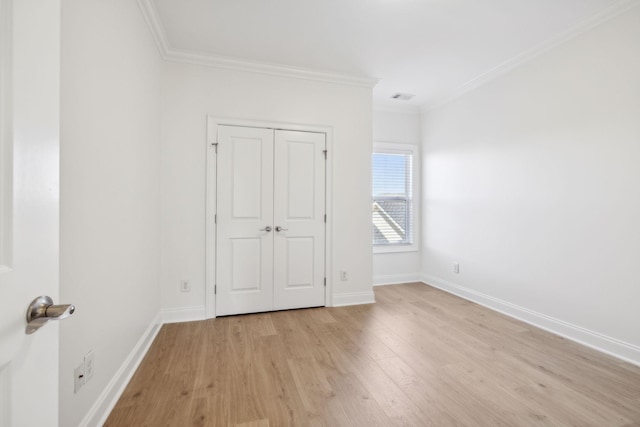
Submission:
[[[417,252],[420,248],[420,152],[419,146],[390,141],[374,141],[373,153],[410,154],[411,155],[411,242],[408,244],[374,245],[373,253]],[[372,157],[373,158],[373,157]],[[373,162],[371,182],[373,184]],[[372,194],[373,201],[373,194]],[[373,224],[371,224],[373,227]]]

